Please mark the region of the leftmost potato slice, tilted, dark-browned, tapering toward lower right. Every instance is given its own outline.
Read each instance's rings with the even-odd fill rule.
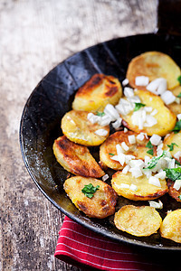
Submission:
[[[105,174],[86,146],[71,142],[65,135],[57,138],[52,148],[59,164],[70,173],[93,178]]]

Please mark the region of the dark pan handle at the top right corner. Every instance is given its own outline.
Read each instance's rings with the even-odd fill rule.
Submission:
[[[157,33],[181,35],[181,0],[158,0]]]

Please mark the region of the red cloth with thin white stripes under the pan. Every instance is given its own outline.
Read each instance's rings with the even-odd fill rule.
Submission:
[[[68,217],[65,217],[59,232],[54,256],[74,266],[84,267],[85,270],[90,267],[91,270],[93,267],[113,271],[171,270],[167,269],[169,257],[163,251],[160,253],[118,243],[84,228]],[[171,260],[175,261],[173,255]],[[179,270],[179,263],[175,264]]]

